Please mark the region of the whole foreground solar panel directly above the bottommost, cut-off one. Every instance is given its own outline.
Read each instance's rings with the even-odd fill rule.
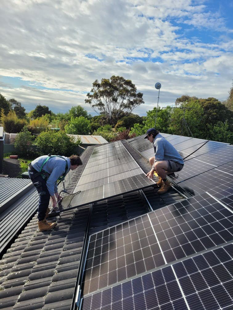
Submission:
[[[89,241],[84,295],[232,241],[232,221],[204,193],[98,232]]]

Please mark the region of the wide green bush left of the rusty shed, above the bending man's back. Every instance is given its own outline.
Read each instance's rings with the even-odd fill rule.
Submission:
[[[41,155],[51,153],[70,156],[75,153],[75,147],[80,141],[75,143],[74,138],[64,131],[44,131],[36,138],[36,144]]]

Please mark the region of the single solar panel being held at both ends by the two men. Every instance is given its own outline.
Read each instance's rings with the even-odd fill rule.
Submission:
[[[103,179],[101,179],[103,180]],[[101,186],[97,186],[94,188],[90,188],[82,191],[79,194],[72,195],[71,201],[66,203],[66,197],[63,198],[61,205],[58,209],[52,210],[54,211],[66,211],[75,209],[76,207],[84,206],[91,202],[101,201],[109,197],[118,196],[124,193],[133,192],[142,188],[147,188],[153,186],[154,183],[145,177],[144,174],[134,175],[132,177],[127,177],[125,179],[121,179],[110,184],[104,184]],[[76,189],[75,189],[76,190]],[[68,206],[67,206],[68,205]]]

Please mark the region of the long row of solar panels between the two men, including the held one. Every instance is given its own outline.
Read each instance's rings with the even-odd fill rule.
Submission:
[[[153,185],[121,141],[105,144],[94,148],[75,188],[77,194],[64,197],[51,212],[74,209]]]

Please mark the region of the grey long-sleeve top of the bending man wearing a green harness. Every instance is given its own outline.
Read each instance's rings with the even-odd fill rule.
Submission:
[[[33,168],[37,171],[40,170],[43,162],[46,160],[48,155],[43,155],[31,162]],[[43,165],[42,170],[48,172],[50,174],[47,179],[46,185],[48,188],[48,192],[50,196],[54,196],[54,193],[57,193],[57,179],[64,175],[66,171],[66,163],[68,165],[68,170],[70,170],[71,161],[68,157],[62,156],[64,159],[60,157],[50,157],[49,160]]]

